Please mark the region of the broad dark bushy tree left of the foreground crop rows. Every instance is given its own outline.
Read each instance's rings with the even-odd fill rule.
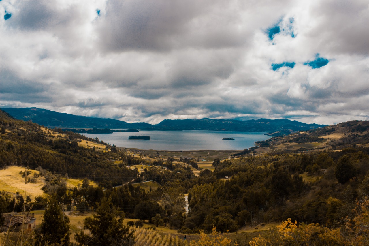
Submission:
[[[80,231],[75,239],[80,245],[130,245],[133,232],[129,232],[127,225],[123,225],[124,213],[111,203],[111,199],[103,197],[101,204],[97,204],[96,214],[85,219],[84,228],[90,234]]]

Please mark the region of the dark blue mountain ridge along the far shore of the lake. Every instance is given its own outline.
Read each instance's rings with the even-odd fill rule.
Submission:
[[[296,131],[311,130],[325,125],[306,124],[288,119],[258,120],[216,120],[216,119],[185,119],[163,120],[159,124],[127,123],[121,120],[77,116],[58,113],[47,109],[3,108],[3,111],[19,120],[32,120],[47,127],[61,128],[100,128],[100,129],[139,129],[139,130],[213,130],[213,131],[251,131],[268,132],[270,136],[289,134]]]

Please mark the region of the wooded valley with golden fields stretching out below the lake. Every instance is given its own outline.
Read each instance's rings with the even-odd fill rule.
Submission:
[[[197,245],[218,236],[238,245],[273,242],[280,237],[270,233],[278,235],[277,228],[293,223],[289,218],[299,225],[292,233],[334,234],[326,242],[337,245],[358,242],[353,233],[369,233],[355,229],[368,211],[368,122],[272,137],[241,152],[156,151],[117,147],[0,113],[1,213],[35,213],[39,229],[29,240],[42,240],[52,206],[68,216],[67,234],[77,244],[94,240],[92,226],[107,208],[124,240],[137,244],[148,239],[130,231],[141,231],[153,245],[164,238]],[[298,240],[321,239],[307,233]]]

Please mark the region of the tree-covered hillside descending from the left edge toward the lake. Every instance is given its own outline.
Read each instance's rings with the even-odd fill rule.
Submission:
[[[137,172],[112,160],[134,162],[116,148],[73,132],[46,129],[36,123],[16,120],[0,110],[0,168],[10,165],[48,169],[73,178],[90,178],[103,186],[132,180]],[[97,154],[98,153],[98,154]],[[114,176],[114,179],[111,177]]]

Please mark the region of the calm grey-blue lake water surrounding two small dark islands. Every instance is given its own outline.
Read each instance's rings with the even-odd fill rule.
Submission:
[[[139,131],[114,132],[112,134],[83,133],[87,137],[115,144],[117,147],[143,150],[244,150],[254,146],[255,141],[269,139],[261,132],[242,131]],[[150,140],[129,140],[131,135],[150,136]],[[225,137],[235,140],[222,140]]]

